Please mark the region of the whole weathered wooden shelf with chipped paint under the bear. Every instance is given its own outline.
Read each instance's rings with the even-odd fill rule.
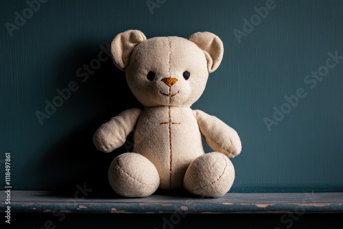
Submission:
[[[1,191],[0,211],[6,208]],[[12,213],[343,213],[343,193],[226,193],[220,198],[151,195],[74,197],[49,191],[12,191]]]

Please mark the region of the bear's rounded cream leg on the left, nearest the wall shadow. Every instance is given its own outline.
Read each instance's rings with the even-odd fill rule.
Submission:
[[[108,180],[112,189],[124,197],[147,197],[160,184],[156,167],[136,153],[117,156],[108,169]]]

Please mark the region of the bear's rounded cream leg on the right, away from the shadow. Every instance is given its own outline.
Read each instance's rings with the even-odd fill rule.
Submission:
[[[190,193],[204,197],[220,197],[235,180],[233,163],[224,154],[212,152],[196,158],[189,165],[183,186]]]

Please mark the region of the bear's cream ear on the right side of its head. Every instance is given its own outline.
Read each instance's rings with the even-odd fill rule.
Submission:
[[[198,32],[191,35],[188,40],[196,43],[204,51],[209,73],[215,71],[222,62],[224,46],[222,40],[210,32]]]

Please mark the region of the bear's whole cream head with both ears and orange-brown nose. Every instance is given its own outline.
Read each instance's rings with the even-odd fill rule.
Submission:
[[[111,44],[115,65],[126,72],[130,90],[143,106],[189,107],[222,61],[222,40],[210,32],[189,39],[147,39],[139,30],[118,34]]]

